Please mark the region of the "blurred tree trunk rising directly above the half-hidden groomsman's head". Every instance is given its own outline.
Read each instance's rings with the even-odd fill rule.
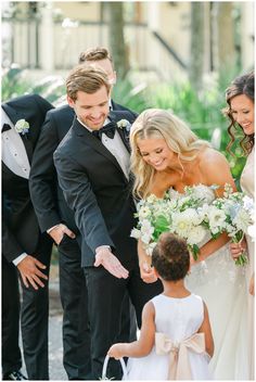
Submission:
[[[129,69],[128,51],[124,37],[124,3],[105,3],[108,11],[108,40],[118,77],[124,78]]]

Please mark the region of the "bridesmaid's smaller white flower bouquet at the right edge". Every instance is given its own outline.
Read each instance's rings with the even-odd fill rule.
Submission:
[[[249,227],[254,224],[254,202],[244,192],[233,192],[230,184],[225,186],[223,198],[216,199],[207,212],[207,225],[212,237],[216,238],[222,232],[231,238],[233,243],[243,240],[244,233],[249,233]],[[236,259],[236,265],[247,263],[246,253],[242,253]]]

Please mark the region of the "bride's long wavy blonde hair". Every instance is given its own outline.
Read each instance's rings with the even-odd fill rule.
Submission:
[[[140,199],[150,194],[155,175],[155,169],[143,160],[138,148],[138,140],[149,138],[164,139],[168,148],[178,154],[179,161],[193,161],[202,148],[210,147],[170,111],[149,109],[142,112],[130,130],[130,168],[135,175],[133,194]]]

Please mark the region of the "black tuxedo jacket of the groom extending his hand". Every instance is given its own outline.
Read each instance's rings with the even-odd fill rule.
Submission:
[[[111,120],[127,119],[130,112],[111,112]],[[129,151],[129,131],[117,128]],[[75,212],[81,233],[81,266],[92,266],[95,249],[110,245],[121,264],[130,268],[137,259],[137,243],[130,238],[136,225],[131,181],[115,156],[77,119],[54,153],[59,182]]]

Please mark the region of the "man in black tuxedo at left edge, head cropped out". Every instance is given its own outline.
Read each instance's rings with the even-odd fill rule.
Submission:
[[[30,201],[28,176],[46,113],[53,106],[37,94],[2,104],[2,373],[24,375],[18,347],[22,278],[22,338],[28,378],[48,380],[48,276],[52,240],[41,234]]]

